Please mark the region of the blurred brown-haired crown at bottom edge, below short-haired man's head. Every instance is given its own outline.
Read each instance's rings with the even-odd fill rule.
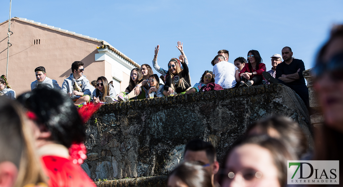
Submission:
[[[169,173],[167,187],[213,187],[211,175],[196,162],[184,162]]]

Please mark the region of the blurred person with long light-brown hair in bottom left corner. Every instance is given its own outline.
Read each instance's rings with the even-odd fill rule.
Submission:
[[[0,118],[0,186],[47,186],[20,107],[0,97]]]

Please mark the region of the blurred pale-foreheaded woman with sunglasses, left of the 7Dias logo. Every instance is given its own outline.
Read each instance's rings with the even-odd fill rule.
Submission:
[[[221,187],[283,187],[287,184],[287,160],[294,160],[284,144],[268,136],[238,141],[221,169]]]

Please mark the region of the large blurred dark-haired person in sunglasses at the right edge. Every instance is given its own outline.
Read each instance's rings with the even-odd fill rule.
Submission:
[[[314,160],[343,160],[343,25],[333,27],[329,40],[319,50],[313,71],[325,119],[317,129]]]

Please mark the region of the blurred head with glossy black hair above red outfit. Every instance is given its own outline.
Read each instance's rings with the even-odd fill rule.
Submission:
[[[34,115],[34,136],[37,146],[59,143],[67,148],[84,140],[82,119],[67,95],[46,86],[20,95],[17,100]]]

